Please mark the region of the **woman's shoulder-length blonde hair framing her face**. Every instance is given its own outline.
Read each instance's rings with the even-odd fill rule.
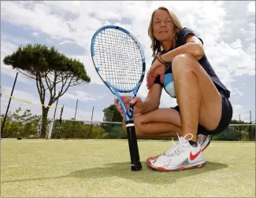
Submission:
[[[178,17],[171,11],[169,11],[169,9],[166,9],[165,7],[159,7],[158,9],[154,10],[154,12],[151,15],[151,20],[150,20],[150,25],[148,27],[148,35],[151,38],[151,49],[153,50],[153,54],[152,57],[155,57],[158,53],[161,53],[161,43],[154,38],[154,29],[153,29],[153,17],[154,17],[154,13],[158,10],[165,10],[169,13],[169,16],[174,24],[174,29],[173,29],[173,33],[174,33],[174,37],[173,37],[173,41],[172,41],[172,47],[176,47],[176,40],[177,40],[177,36],[178,36],[178,32],[182,29],[182,24],[180,23],[180,20],[178,19]]]

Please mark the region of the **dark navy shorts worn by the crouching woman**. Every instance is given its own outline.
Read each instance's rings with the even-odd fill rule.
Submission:
[[[232,116],[233,116],[233,108],[228,100],[228,97],[225,97],[224,94],[221,93],[222,97],[222,112],[221,112],[221,120],[215,130],[206,130],[205,127],[198,124],[198,134],[205,134],[205,135],[217,135],[224,131],[228,125],[231,123]],[[180,112],[180,107],[176,106],[173,109]]]

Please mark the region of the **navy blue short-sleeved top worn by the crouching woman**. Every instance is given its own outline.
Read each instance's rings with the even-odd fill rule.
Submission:
[[[186,36],[187,35],[195,35],[195,32],[192,31],[191,29],[184,27],[180,30],[180,32],[178,33],[178,37],[177,37],[177,42],[176,42],[176,47],[179,46],[183,46],[184,44],[186,44]],[[195,35],[197,38],[198,36]],[[199,38],[202,42],[202,38]],[[203,44],[203,42],[202,42]],[[167,53],[172,49],[169,49],[168,51],[163,51],[163,53]],[[155,58],[154,58],[155,60]],[[154,62],[154,61],[153,61]],[[152,62],[152,64],[153,64]],[[200,60],[198,60],[198,63],[202,65],[202,68],[204,68],[204,70],[207,72],[208,75],[210,75],[210,79],[212,79],[214,85],[216,86],[217,90],[221,93],[223,93],[226,97],[230,97],[230,91],[227,89],[226,86],[224,86],[223,83],[221,83],[221,80],[217,77],[216,73],[214,72],[210,62],[208,61],[206,54],[204,54],[202,56],[202,58]],[[165,74],[166,73],[172,73],[172,64],[171,63],[166,63],[165,64]],[[163,86],[163,84],[160,82],[160,75],[158,75],[158,77],[155,79],[154,83],[158,83],[161,86]]]

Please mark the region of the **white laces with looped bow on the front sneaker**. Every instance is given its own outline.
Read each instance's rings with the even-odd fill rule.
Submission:
[[[187,135],[191,135],[191,138],[188,139],[188,140],[186,139]],[[169,149],[164,153],[164,155],[165,155],[165,156],[174,156],[174,155],[178,155],[178,154],[182,151],[182,148],[183,148],[184,146],[187,146],[187,144],[189,145],[189,142],[188,142],[188,141],[190,141],[190,140],[193,138],[193,135],[192,135],[192,134],[187,134],[187,135],[185,135],[184,137],[180,137],[179,134],[177,134],[178,139],[179,139],[178,143],[175,144],[175,143],[173,142],[173,144],[174,144],[173,147],[169,148]]]

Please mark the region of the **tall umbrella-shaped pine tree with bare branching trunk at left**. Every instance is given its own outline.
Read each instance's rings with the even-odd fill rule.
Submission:
[[[70,86],[91,81],[80,61],[58,53],[54,47],[39,44],[19,46],[3,60],[20,73],[35,79],[36,87],[42,104],[41,137],[46,136],[47,116],[49,108]],[[46,94],[49,101],[46,101]]]

